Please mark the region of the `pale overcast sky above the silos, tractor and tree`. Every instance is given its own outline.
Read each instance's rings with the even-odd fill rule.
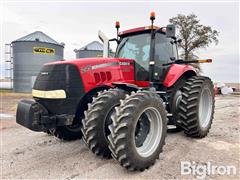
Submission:
[[[213,44],[197,52],[200,58],[213,59],[212,64],[202,66],[203,72],[214,81],[239,81],[239,3],[237,2],[6,1],[2,5],[2,44],[40,30],[58,42],[66,44],[65,59],[74,59],[74,49],[98,40],[98,30],[102,30],[108,37],[114,37],[116,20],[121,22],[121,30],[125,30],[149,25],[150,11],[156,12],[155,23],[158,26],[165,26],[169,18],[179,13],[195,13],[203,24],[210,25],[220,32],[217,46]],[[3,56],[1,57],[3,62]]]

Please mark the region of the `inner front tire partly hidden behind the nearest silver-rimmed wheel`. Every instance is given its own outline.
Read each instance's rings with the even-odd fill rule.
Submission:
[[[115,107],[120,105],[120,99],[125,98],[122,89],[109,89],[99,92],[93,102],[88,104],[88,110],[84,112],[82,134],[83,141],[97,156],[111,157],[108,148],[107,136],[110,134],[108,125],[111,124],[111,115],[115,113]]]

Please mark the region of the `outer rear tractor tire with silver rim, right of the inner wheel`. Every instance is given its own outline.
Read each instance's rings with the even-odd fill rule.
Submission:
[[[193,76],[183,87],[179,105],[180,125],[190,137],[205,137],[214,114],[213,83],[208,77]]]

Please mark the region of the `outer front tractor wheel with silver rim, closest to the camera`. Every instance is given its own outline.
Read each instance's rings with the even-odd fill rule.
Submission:
[[[144,171],[162,152],[167,133],[163,100],[154,92],[132,92],[116,107],[109,126],[114,159],[130,171]]]

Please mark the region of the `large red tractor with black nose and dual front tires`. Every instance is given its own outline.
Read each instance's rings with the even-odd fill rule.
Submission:
[[[213,83],[190,63],[211,60],[179,59],[175,27],[154,26],[154,13],[150,19],[151,26],[109,40],[117,42],[114,58],[44,65],[34,100],[18,103],[17,123],[64,140],[82,137],[93,153],[132,171],[159,158],[168,125],[205,137],[213,120]]]

